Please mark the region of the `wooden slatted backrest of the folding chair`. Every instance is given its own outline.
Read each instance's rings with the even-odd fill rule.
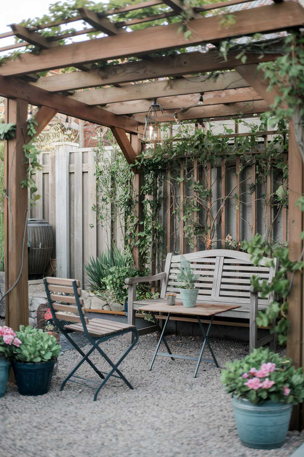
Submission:
[[[73,282],[76,282],[77,286],[77,299],[74,294]],[[58,320],[67,320],[69,322],[79,322],[82,320],[79,317],[79,309],[77,306],[77,300],[80,304],[80,311],[85,314],[83,300],[81,296],[80,282],[76,279],[63,279],[46,277],[45,284],[50,295],[50,307],[53,308],[53,312]],[[62,304],[64,303],[64,304]],[[71,303],[71,304],[67,304]],[[63,311],[63,312],[62,312]],[[73,314],[66,314],[64,311]],[[77,315],[75,315],[77,314]],[[88,324],[88,318],[84,317],[85,323]]]

